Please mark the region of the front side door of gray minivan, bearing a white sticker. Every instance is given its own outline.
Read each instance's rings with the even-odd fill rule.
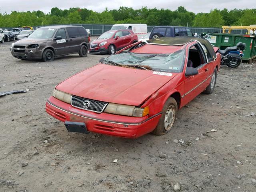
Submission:
[[[61,37],[61,39],[56,40],[57,37]],[[56,32],[54,36],[54,49],[56,55],[64,55],[70,52],[65,28],[60,28]]]

